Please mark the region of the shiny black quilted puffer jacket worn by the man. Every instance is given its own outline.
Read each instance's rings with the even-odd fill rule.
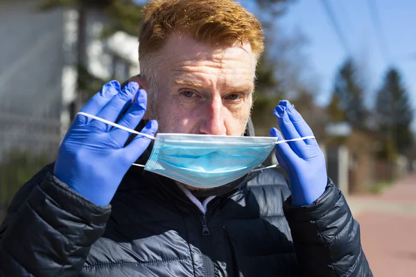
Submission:
[[[202,235],[202,213],[170,179],[132,168],[111,206],[98,207],[51,172],[8,210],[0,276],[372,276],[331,182],[311,206],[293,207],[286,180],[266,170],[209,202]]]

